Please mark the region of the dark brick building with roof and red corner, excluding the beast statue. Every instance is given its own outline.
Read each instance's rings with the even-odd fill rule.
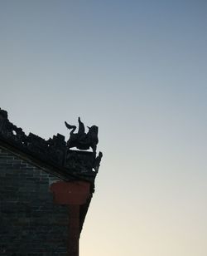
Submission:
[[[101,157],[63,135],[25,135],[0,109],[0,255],[78,256]]]

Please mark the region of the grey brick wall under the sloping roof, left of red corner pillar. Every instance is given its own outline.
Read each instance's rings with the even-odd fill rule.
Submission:
[[[0,255],[66,255],[68,208],[50,191],[57,180],[0,147]]]

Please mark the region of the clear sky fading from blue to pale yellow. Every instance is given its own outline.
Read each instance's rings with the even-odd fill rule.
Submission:
[[[207,2],[0,1],[0,107],[99,126],[81,256],[207,255]]]

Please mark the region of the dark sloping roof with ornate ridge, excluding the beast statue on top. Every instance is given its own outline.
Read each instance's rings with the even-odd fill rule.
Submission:
[[[92,185],[102,157],[101,152],[97,156],[95,151],[71,150],[64,135],[57,134],[49,140],[32,133],[26,135],[1,108],[0,145],[63,180],[86,180]]]

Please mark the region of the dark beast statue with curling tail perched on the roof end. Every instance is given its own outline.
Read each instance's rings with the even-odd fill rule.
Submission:
[[[67,141],[67,145],[69,148],[76,147],[79,150],[89,150],[89,147],[92,148],[93,152],[96,151],[96,146],[99,142],[98,139],[98,126],[87,126],[89,128],[88,133],[84,131],[84,123],[80,121],[79,118],[79,130],[77,133],[74,133],[76,130],[76,126],[70,126],[65,121],[65,126],[71,130],[70,131],[70,139]]]

